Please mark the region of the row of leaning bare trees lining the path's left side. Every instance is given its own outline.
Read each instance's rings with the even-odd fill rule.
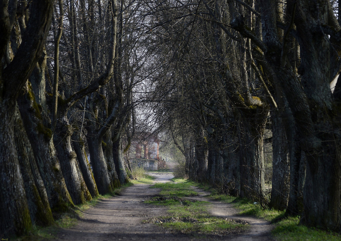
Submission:
[[[0,5],[3,237],[128,181],[146,30],[134,1]]]

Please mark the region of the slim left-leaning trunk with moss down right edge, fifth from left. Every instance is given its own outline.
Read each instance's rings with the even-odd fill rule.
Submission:
[[[81,173],[83,175],[84,181],[86,183],[86,186],[88,187],[88,190],[92,197],[97,197],[99,195],[95,179],[93,178],[93,174],[90,168],[90,163],[88,161],[88,157],[85,153],[84,148],[84,141],[79,139],[78,136],[74,133],[72,135],[72,144],[75,149],[79,168],[81,170]]]

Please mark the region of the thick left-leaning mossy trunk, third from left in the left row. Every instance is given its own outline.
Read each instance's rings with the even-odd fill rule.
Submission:
[[[29,82],[24,88],[23,96],[19,96],[18,103],[50,207],[54,212],[68,210],[68,206],[73,206],[73,202],[60,170],[57,152],[51,140],[52,133],[43,124],[44,115],[40,113]]]

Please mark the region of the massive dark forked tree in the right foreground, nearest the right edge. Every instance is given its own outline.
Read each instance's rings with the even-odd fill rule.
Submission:
[[[329,83],[338,56],[321,26],[334,24],[330,2],[306,0],[288,1],[287,9],[295,13],[294,23],[300,46],[299,77],[289,60],[281,57],[283,49],[278,42],[276,11],[271,1],[261,1],[263,41],[268,50],[266,60],[271,66],[286,95],[295,117],[300,146],[307,161],[306,181],[303,189],[303,216],[301,223],[328,230],[341,228],[341,147],[340,108],[334,102]],[[330,15],[331,14],[331,15]],[[274,23],[274,24],[273,24]],[[339,43],[338,43],[339,47]]]

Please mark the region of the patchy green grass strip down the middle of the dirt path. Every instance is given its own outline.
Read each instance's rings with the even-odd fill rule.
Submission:
[[[167,207],[167,216],[146,220],[158,223],[171,231],[193,235],[224,235],[239,233],[246,226],[234,220],[221,219],[208,214],[207,202],[191,199],[197,193],[191,188],[195,183],[184,179],[174,179],[177,183],[156,183],[152,188],[160,188],[159,196],[145,203]]]

